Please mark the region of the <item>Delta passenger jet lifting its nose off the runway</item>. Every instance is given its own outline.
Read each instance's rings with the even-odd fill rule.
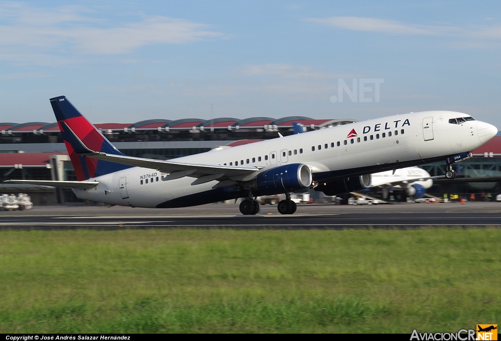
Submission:
[[[65,96],[51,105],[79,181],[10,180],[72,188],[76,196],[131,207],[186,207],[246,198],[242,214],[256,214],[257,196],[314,188],[338,195],[372,184],[371,173],[471,157],[496,127],[452,111],[426,111],[356,122],[303,134],[161,161],[118,151]]]

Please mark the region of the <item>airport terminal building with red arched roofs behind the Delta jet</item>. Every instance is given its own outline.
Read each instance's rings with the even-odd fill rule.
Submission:
[[[356,122],[353,119],[312,119],[291,116],[280,119],[252,117],[243,120],[215,118],[212,120],[152,119],[136,123],[100,123],[95,126],[120,151],[130,156],[151,159],[172,159],[207,152],[213,148],[230,148],[245,143],[294,133],[293,123],[303,131],[328,129]],[[43,186],[3,184],[8,179],[76,180],[57,123],[0,122],[0,193],[29,192],[36,205],[75,201],[71,190],[54,190]],[[473,158],[454,165],[455,180],[435,180],[428,193],[442,196],[457,193],[500,192],[497,178],[501,175],[501,136],[496,136],[479,149]],[[421,166],[431,176],[443,175],[442,163]],[[475,178],[474,180],[468,178]],[[485,178],[485,179],[478,179]],[[316,192],[317,196],[319,192]],[[323,193],[320,193],[323,194]]]

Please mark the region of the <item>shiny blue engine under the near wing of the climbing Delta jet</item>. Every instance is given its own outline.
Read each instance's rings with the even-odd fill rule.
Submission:
[[[303,163],[275,167],[258,174],[250,185],[256,195],[274,195],[299,191],[310,187],[312,173]]]

